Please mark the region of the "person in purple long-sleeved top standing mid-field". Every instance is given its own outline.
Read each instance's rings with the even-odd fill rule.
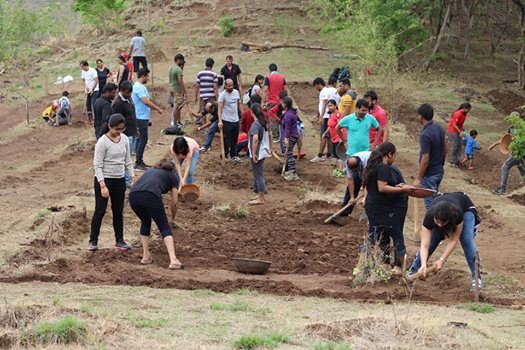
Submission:
[[[283,143],[286,154],[287,169],[284,173],[286,181],[299,180],[297,175],[293,149],[299,139],[297,130],[297,109],[293,108],[293,101],[289,96],[283,97],[284,114],[281,120]]]

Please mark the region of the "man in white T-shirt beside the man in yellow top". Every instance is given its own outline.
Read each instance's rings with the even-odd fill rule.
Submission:
[[[333,81],[333,79],[332,79]],[[313,159],[310,159],[310,162],[317,163],[330,158],[332,153],[332,141],[330,135],[327,134],[326,137],[323,137],[324,133],[328,129],[328,119],[330,118],[330,112],[326,108],[328,101],[339,97],[337,95],[337,89],[333,86],[326,86],[323,78],[315,78],[313,85],[317,92],[319,92],[319,109],[317,111],[317,122],[320,126],[319,132],[321,136],[321,142],[319,145],[319,153]],[[337,102],[337,101],[336,101]],[[326,155],[323,155],[324,149],[326,147]]]

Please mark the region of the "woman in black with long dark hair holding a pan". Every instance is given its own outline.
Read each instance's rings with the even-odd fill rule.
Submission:
[[[368,240],[371,246],[379,242],[383,252],[383,264],[388,265],[390,238],[394,241],[394,273],[401,274],[406,253],[403,224],[408,208],[407,193],[412,186],[404,183],[399,170],[392,167],[396,159],[396,147],[390,142],[382,143],[370,154],[364,172],[366,188],[365,211],[368,216]]]

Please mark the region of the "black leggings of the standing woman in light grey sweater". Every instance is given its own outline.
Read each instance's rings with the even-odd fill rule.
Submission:
[[[106,187],[109,190],[109,198],[111,198],[111,212],[113,213],[113,229],[115,230],[115,241],[120,242],[124,240],[124,198],[126,195],[126,180],[120,179],[104,179]],[[100,226],[102,219],[106,214],[108,206],[108,199],[103,198],[100,191],[100,184],[95,177],[95,212],[91,219],[91,236],[89,242],[97,244],[98,235],[100,234]]]

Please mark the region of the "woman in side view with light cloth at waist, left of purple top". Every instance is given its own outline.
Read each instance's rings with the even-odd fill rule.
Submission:
[[[254,103],[250,108],[256,120],[250,127],[248,150],[253,171],[253,192],[257,194],[257,197],[248,202],[248,204],[258,205],[265,203],[264,159],[272,156],[271,131],[269,131],[268,121],[263,114],[261,105]]]

